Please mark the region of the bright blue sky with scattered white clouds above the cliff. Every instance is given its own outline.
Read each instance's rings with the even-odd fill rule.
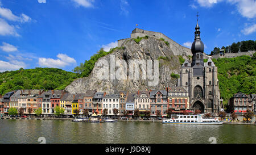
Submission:
[[[255,0],[0,0],[0,72],[53,67],[71,71],[138,28],[191,47],[199,12],[205,53],[255,40]]]

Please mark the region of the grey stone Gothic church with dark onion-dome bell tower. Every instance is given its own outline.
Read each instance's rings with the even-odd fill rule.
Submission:
[[[195,40],[191,46],[192,63],[185,60],[182,64],[177,86],[187,90],[192,111],[217,114],[221,110],[217,66],[211,58],[204,62],[204,43],[201,41],[198,19],[195,29]]]

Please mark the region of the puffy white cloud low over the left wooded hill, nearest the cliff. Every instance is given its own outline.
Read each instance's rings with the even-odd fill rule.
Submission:
[[[64,54],[57,55],[59,59],[40,57],[38,63],[40,66],[50,68],[63,68],[68,65],[76,64],[76,60]]]

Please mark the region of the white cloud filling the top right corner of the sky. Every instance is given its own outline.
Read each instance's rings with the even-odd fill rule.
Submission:
[[[256,1],[255,0],[228,0],[232,4],[236,4],[238,12],[246,18],[256,17]]]

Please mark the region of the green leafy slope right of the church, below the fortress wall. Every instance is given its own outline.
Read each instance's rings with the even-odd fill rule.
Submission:
[[[225,102],[240,91],[256,93],[256,53],[253,57],[218,58],[213,62],[218,67],[221,97]]]

